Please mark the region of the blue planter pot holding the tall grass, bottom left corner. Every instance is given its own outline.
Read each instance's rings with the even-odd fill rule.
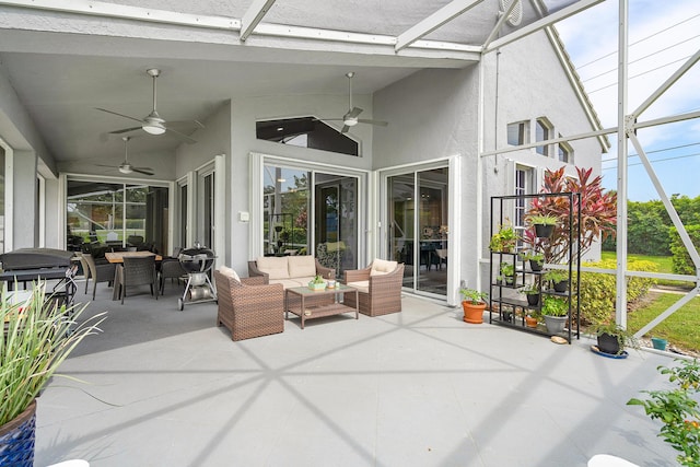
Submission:
[[[0,465],[33,467],[36,401],[0,427]]]

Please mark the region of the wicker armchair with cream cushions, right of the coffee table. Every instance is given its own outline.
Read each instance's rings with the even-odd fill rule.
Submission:
[[[372,267],[375,262],[364,269],[345,271],[343,282],[358,289],[360,313],[380,316],[400,312],[404,264],[396,265],[396,269],[390,272],[373,275]],[[346,294],[343,300],[348,306],[355,305],[352,294]]]

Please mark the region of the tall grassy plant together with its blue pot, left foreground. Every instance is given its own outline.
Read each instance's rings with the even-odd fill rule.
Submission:
[[[27,296],[0,296],[0,465],[34,463],[36,397],[58,366],[89,335],[97,331],[103,314],[75,326],[85,307],[67,308],[34,285]]]

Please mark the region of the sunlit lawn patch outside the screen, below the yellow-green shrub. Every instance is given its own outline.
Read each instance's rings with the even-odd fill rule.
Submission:
[[[627,327],[631,331],[641,329],[666,308],[677,302],[682,295],[674,293],[652,293],[652,303],[627,315]],[[646,337],[662,337],[668,343],[680,349],[700,351],[700,297],[692,299],[688,304],[666,318],[649,332]]]

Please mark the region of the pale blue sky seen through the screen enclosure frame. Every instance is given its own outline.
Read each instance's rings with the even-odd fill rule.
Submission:
[[[557,23],[604,128],[617,126],[618,1],[607,0]],[[629,112],[635,109],[700,49],[700,0],[630,0]],[[700,109],[700,62],[639,121]],[[638,137],[666,195],[700,196],[700,119],[639,130]],[[616,135],[603,155],[606,188],[617,189]],[[630,144],[629,154],[637,151]],[[628,197],[660,199],[637,156],[630,156]]]

